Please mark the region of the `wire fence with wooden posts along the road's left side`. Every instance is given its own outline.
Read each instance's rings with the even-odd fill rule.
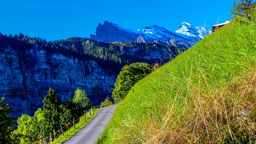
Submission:
[[[77,120],[73,118],[73,122],[70,124],[66,124],[64,126],[60,124],[60,129],[56,132],[53,130],[52,131],[53,133],[50,133],[50,136],[48,137],[46,137],[46,134],[44,133],[43,136],[40,138],[40,140],[37,142],[34,142],[33,144],[52,144],[52,142],[56,140],[60,135],[64,136],[64,132],[66,132],[67,130],[70,130],[70,128],[72,127],[75,128],[76,124],[78,124],[79,122],[80,124],[82,124],[83,119],[86,122],[86,119],[90,118],[90,116],[93,114],[93,109],[96,109],[98,107],[100,108],[100,106],[94,106],[90,110],[84,111],[84,114],[80,116]]]

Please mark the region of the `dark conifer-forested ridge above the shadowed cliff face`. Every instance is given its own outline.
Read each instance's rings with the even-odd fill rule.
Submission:
[[[177,48],[170,45],[162,45],[156,42],[99,42],[89,38],[72,37],[65,40],[46,41],[43,38],[31,38],[24,34],[6,35],[0,33],[0,50],[5,46],[11,46],[16,50],[26,50],[37,47],[38,50],[61,53],[65,56],[74,56],[83,60],[94,60],[102,68],[110,68],[112,71],[120,71],[126,65],[134,62],[168,62],[168,59],[145,59],[143,56],[147,49],[156,50],[164,48],[171,57],[176,56]],[[129,48],[142,48],[139,54],[128,55],[124,50]]]

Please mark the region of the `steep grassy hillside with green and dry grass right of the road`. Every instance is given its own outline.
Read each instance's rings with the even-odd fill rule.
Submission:
[[[138,82],[98,143],[254,143],[254,18],[233,20]]]

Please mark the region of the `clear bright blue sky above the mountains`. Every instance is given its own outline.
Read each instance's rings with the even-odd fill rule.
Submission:
[[[234,0],[0,0],[0,32],[46,38],[88,37],[105,20],[124,28],[156,24],[175,31],[182,22],[211,28],[230,20]]]

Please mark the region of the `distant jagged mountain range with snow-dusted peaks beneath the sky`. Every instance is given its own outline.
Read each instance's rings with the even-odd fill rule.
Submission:
[[[166,45],[174,45],[179,48],[188,49],[194,45],[198,38],[208,36],[211,30],[203,26],[193,26],[183,22],[176,32],[171,32],[163,27],[153,25],[146,26],[141,30],[122,28],[118,24],[105,21],[98,24],[94,34],[89,36],[92,40],[101,42],[158,42]],[[198,37],[198,38],[197,38]]]

